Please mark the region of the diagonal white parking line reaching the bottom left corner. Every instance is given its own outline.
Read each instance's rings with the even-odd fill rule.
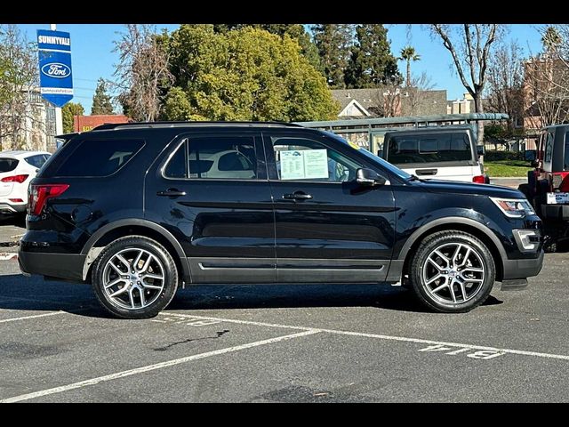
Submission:
[[[315,330],[315,329],[310,329],[307,331],[299,332],[297,334],[277,336],[276,338],[269,338],[268,340],[249,342],[247,344],[236,345],[234,347],[228,347],[226,349],[207,351],[205,353],[195,354],[193,356],[187,356],[185,358],[172,359],[172,360],[168,360],[165,362],[156,363],[154,365],[148,365],[146,367],[137,367],[135,369],[129,369],[127,371],[116,372],[115,374],[103,375],[103,376],[99,376],[97,378],[92,378],[90,380],[81,381],[79,383],[62,385],[60,387],[54,387],[52,389],[35,391],[33,393],[22,394],[20,396],[14,396],[12,398],[7,398],[7,399],[0,399],[0,403],[13,403],[13,402],[20,402],[22,400],[36,399],[36,398],[39,398],[42,396],[47,396],[50,394],[61,393],[63,391],[69,391],[69,390],[74,390],[74,389],[80,389],[83,387],[87,387],[89,385],[95,385],[95,384],[103,383],[106,381],[124,378],[125,376],[143,374],[145,372],[154,371],[156,369],[162,369],[164,367],[173,367],[175,365],[180,365],[181,363],[190,362],[192,360],[210,358],[212,356],[218,356],[220,354],[225,354],[225,353],[230,353],[230,352],[245,350],[245,349],[251,349],[253,347],[260,347],[261,345],[272,344],[273,342],[287,341],[287,340],[292,340],[294,338],[300,338],[301,336],[318,334],[318,332],[320,332],[320,331]]]

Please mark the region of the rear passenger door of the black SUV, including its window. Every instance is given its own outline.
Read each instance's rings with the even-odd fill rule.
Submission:
[[[146,181],[146,217],[178,238],[194,283],[273,282],[275,224],[260,134],[191,133]]]

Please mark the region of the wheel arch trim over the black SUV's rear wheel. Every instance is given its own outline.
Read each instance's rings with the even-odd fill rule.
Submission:
[[[172,258],[176,263],[176,267],[180,271],[180,278],[182,278],[184,282],[188,282],[188,262],[186,261],[186,255],[184,254],[178,239],[176,239],[170,231],[164,229],[161,225],[156,224],[156,222],[149,222],[138,218],[111,222],[92,234],[91,238],[87,240],[83,250],[81,251],[81,254],[86,255],[82,273],[83,280],[88,281],[91,277],[90,271],[92,263],[97,259],[105,246],[117,238],[124,238],[132,235],[152,238],[164,246],[164,248],[172,255]]]

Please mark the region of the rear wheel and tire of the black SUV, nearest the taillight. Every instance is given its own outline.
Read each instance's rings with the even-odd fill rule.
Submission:
[[[152,258],[148,255],[148,258],[146,258],[150,259],[148,262],[150,272],[146,274],[153,275],[153,273],[156,273],[154,275],[163,276],[162,279],[157,279],[157,281],[155,281],[155,278],[151,278],[152,283],[148,284],[144,281],[144,274],[140,273],[140,281],[136,283],[141,287],[134,285],[135,281],[139,279],[138,276],[133,279],[134,281],[130,281],[133,276],[130,275],[131,269],[129,268],[129,265],[132,266],[133,260],[129,260],[127,257],[137,254],[137,251],[138,253],[143,254],[143,256],[151,254],[154,257]],[[117,254],[120,256],[123,256],[124,254],[124,260],[130,262],[130,264],[125,265],[123,262],[116,262]],[[116,263],[120,269],[126,270],[124,273],[121,270],[121,273],[125,275],[124,277],[128,276],[129,278],[124,279],[124,281],[121,279],[120,284],[111,286],[108,288],[109,290],[106,291],[105,285],[108,286],[108,281],[110,280],[107,276],[114,274],[116,280],[119,276],[117,270],[111,269],[110,267],[106,270],[108,262],[110,262],[111,259],[114,259],[113,264]],[[140,259],[140,262],[144,262],[144,260],[145,258],[142,258]],[[140,262],[138,263],[139,267]],[[134,267],[132,267],[132,269],[134,269]],[[117,318],[154,318],[172,301],[179,282],[178,269],[176,268],[176,263],[172,259],[172,255],[164,248],[164,246],[156,242],[156,240],[145,238],[144,236],[128,236],[125,238],[118,238],[111,242],[107,247],[105,247],[97,260],[93,263],[91,278],[93,290],[97,299],[106,310]],[[123,286],[125,288],[130,288],[130,291],[123,291]],[[150,289],[145,286],[154,287]],[[133,287],[136,289],[132,289]],[[140,289],[144,289],[144,292]],[[116,290],[123,291],[124,294],[128,294],[129,300],[123,302],[122,298],[126,298],[126,295],[124,294],[119,294],[115,298],[112,298],[111,295],[108,294],[116,292]],[[143,301],[145,298],[148,298],[150,302]],[[140,304],[140,307],[136,307],[137,302]],[[131,303],[133,307],[125,307],[125,305],[129,303]],[[148,305],[144,306],[145,303],[148,303]]]

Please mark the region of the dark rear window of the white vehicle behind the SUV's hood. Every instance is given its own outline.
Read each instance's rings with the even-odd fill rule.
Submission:
[[[388,160],[405,163],[440,163],[472,160],[469,138],[464,133],[393,135]]]

